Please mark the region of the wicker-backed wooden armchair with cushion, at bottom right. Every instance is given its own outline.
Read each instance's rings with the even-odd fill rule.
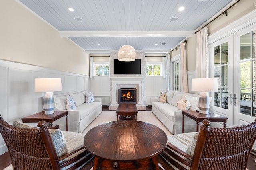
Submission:
[[[246,170],[255,139],[256,120],[228,128],[211,128],[204,120],[199,133],[169,136],[160,155],[174,169]]]

